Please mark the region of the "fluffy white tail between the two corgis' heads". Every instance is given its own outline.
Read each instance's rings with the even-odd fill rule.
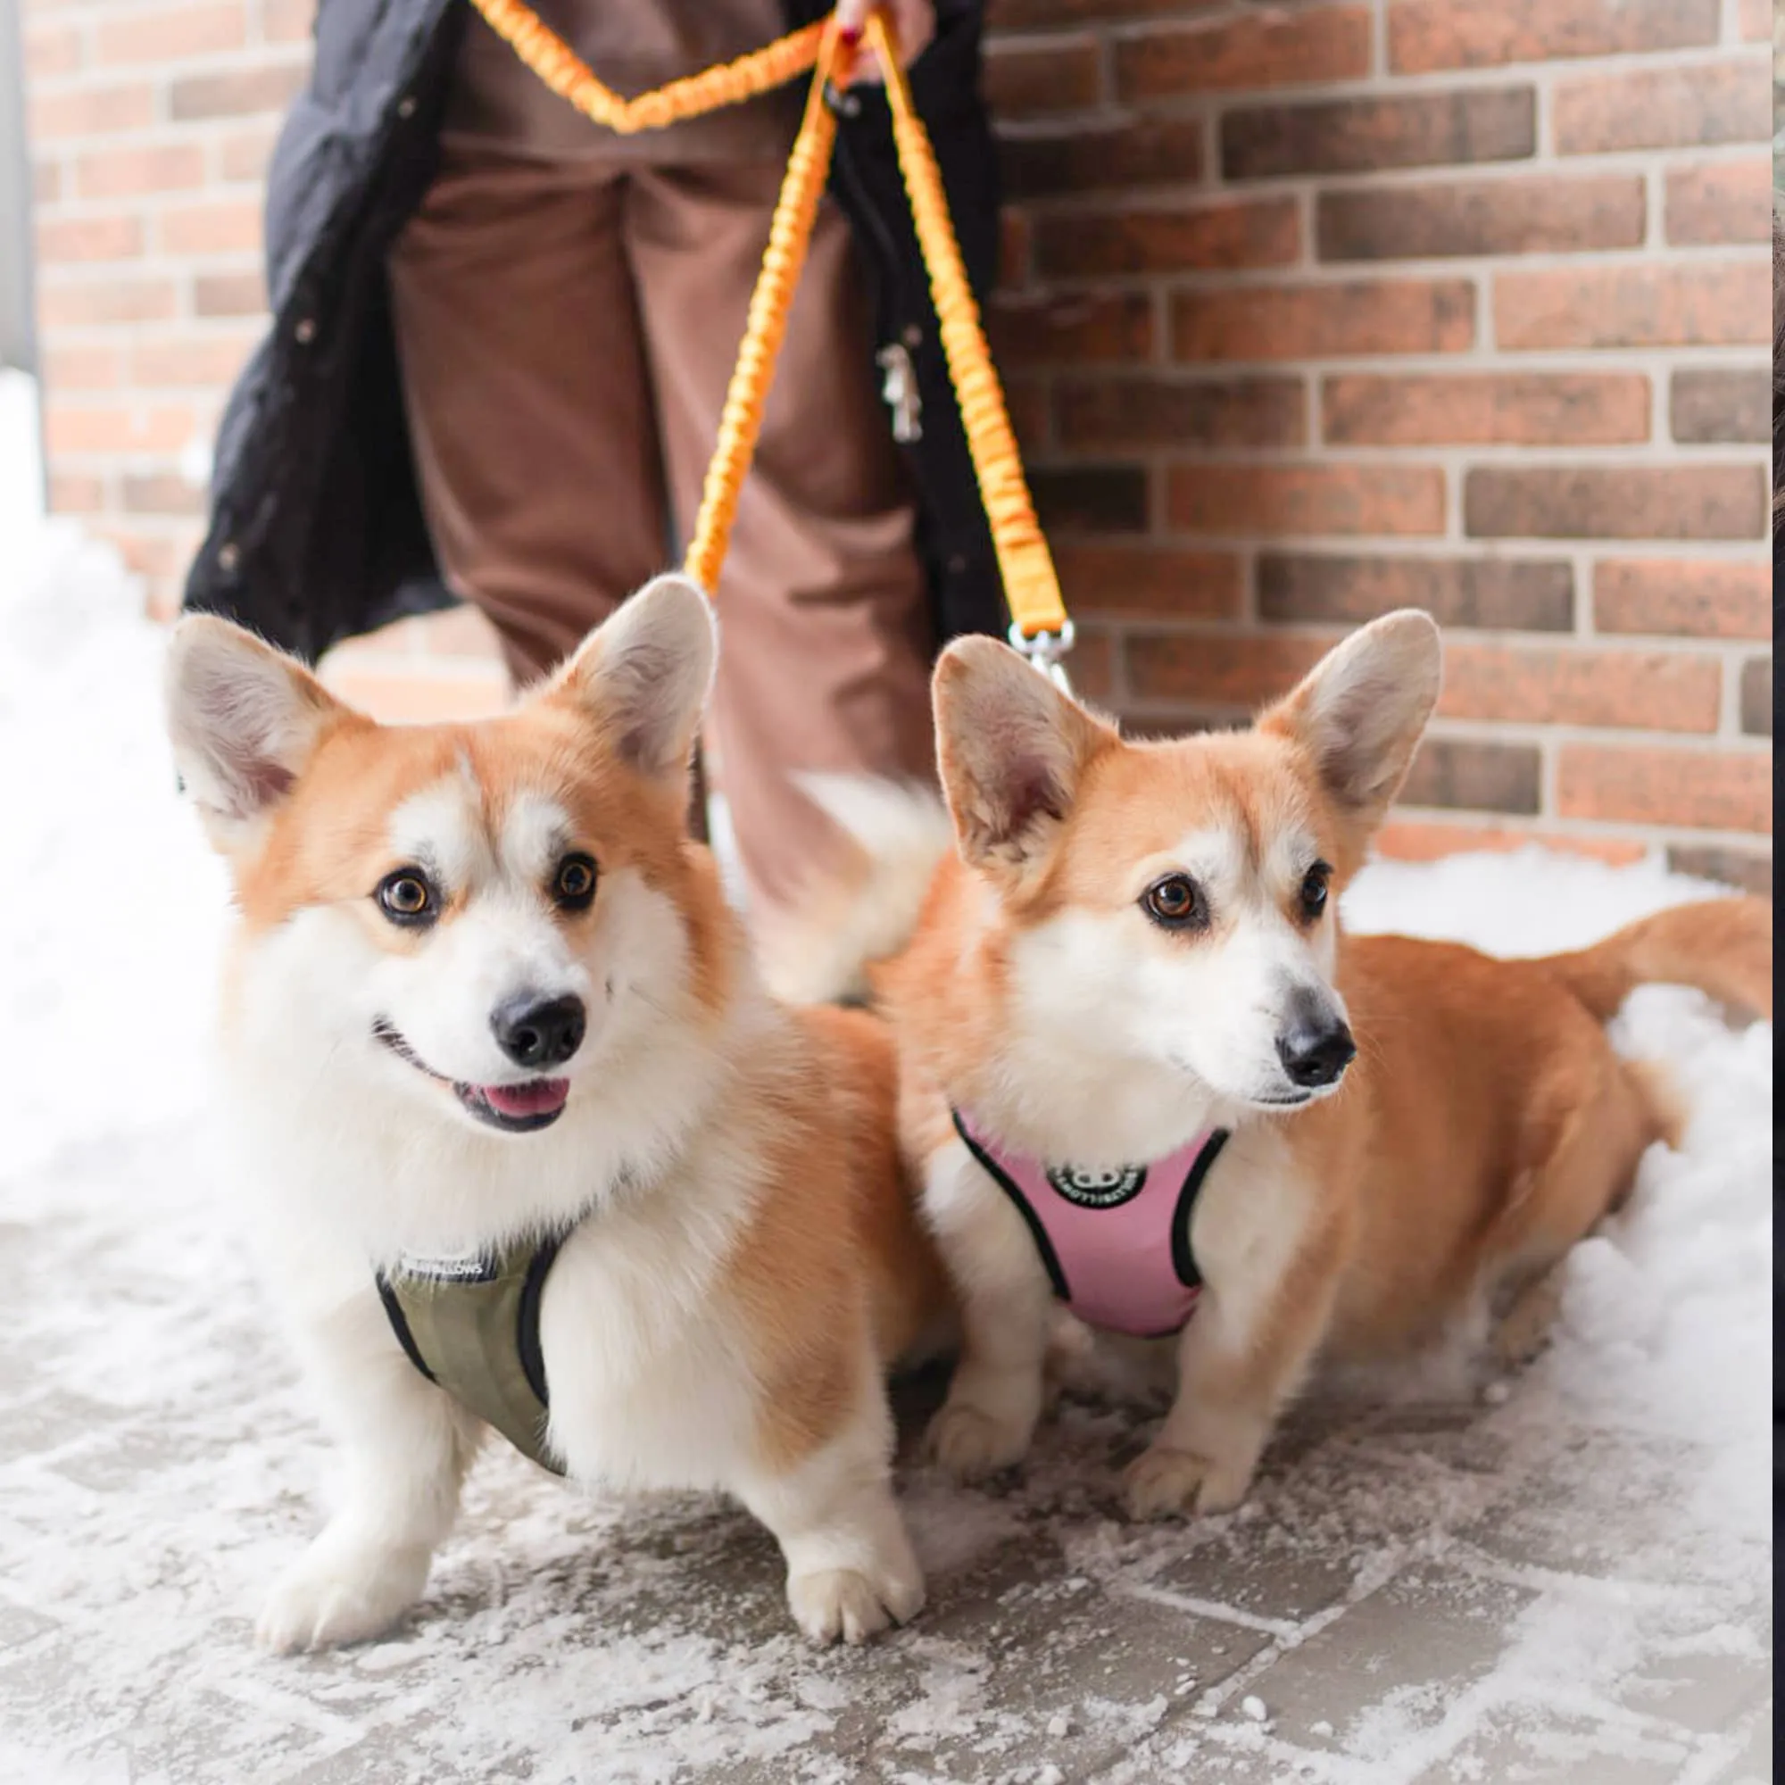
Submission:
[[[955,834],[932,787],[851,775],[805,775],[800,787],[853,850],[791,914],[764,925],[762,975],[787,1003],[860,1001],[868,967],[910,941]]]

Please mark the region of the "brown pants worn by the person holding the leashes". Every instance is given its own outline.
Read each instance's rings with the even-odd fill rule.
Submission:
[[[693,534],[780,175],[450,146],[400,237],[428,527],[518,680]],[[837,848],[794,775],[934,773],[926,591],[868,327],[826,203],[718,591],[709,744],[757,909]]]

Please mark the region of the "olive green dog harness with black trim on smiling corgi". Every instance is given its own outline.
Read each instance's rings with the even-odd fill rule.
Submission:
[[[564,1467],[546,1451],[539,1298],[568,1233],[461,1258],[405,1257],[378,1273],[378,1298],[409,1362],[553,1474]]]

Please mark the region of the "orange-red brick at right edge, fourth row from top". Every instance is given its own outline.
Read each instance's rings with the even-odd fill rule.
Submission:
[[[1494,278],[1501,348],[1748,346],[1771,339],[1765,261],[1571,266]]]

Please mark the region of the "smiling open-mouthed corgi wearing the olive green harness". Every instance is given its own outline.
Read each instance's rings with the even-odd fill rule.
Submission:
[[[173,753],[237,905],[239,1196],[346,1464],[266,1601],[273,1649],[419,1598],[484,1433],[389,1280],[489,1287],[478,1262],[539,1235],[548,1467],[734,1494],[812,1639],[923,1603],[884,1373],[948,1324],[948,1283],[887,1032],[771,1000],[687,839],[714,652],[705,596],[666,577],[516,710],[384,726],[221,619],[175,630]]]

